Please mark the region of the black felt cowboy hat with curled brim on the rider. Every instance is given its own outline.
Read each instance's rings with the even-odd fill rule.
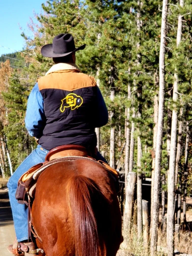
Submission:
[[[44,57],[63,57],[71,54],[72,52],[83,50],[86,44],[75,48],[73,36],[71,34],[59,34],[54,37],[53,43],[44,45],[41,48],[41,54]]]

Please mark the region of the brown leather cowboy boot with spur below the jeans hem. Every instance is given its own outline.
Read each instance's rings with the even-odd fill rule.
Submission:
[[[35,256],[39,251],[43,253],[42,249],[37,248],[33,242],[21,243],[15,238],[14,244],[8,246],[8,251],[16,256]]]

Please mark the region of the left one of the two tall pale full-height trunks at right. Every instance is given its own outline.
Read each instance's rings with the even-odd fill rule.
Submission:
[[[162,157],[162,136],[163,136],[163,117],[164,117],[164,96],[165,96],[165,43],[166,43],[166,20],[167,20],[168,0],[163,0],[162,22],[161,22],[161,42],[159,52],[159,110],[157,126],[157,143],[155,153],[155,173],[153,191],[153,216],[151,230],[151,256],[155,256],[157,251],[157,229],[159,217],[159,186],[161,175]]]

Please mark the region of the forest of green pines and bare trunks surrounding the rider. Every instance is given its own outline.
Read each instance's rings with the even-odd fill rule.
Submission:
[[[95,77],[109,111],[108,124],[95,129],[98,150],[120,170],[125,197],[131,180],[137,183],[135,204],[128,207],[125,201],[121,207],[125,255],[156,255],[164,232],[172,256],[179,243],[176,225],[190,229],[191,13],[190,0],[48,0],[29,24],[33,37],[22,33],[24,51],[0,57],[0,175],[7,178],[37,145],[24,119],[31,89],[53,65],[41,47],[60,33],[72,34],[76,47],[86,44],[76,63]],[[142,183],[147,179],[146,224]],[[190,238],[185,239],[182,250],[192,254]]]

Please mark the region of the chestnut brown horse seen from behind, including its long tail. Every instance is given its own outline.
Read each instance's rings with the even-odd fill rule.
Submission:
[[[90,159],[48,167],[37,182],[32,216],[47,256],[115,256],[122,242],[114,179]]]

